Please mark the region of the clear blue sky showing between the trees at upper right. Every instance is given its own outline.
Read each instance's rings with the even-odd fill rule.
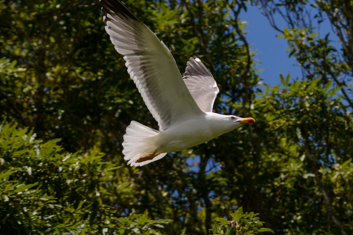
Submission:
[[[293,57],[288,57],[286,49],[288,46],[287,41],[283,38],[276,37],[279,32],[271,27],[267,18],[261,14],[256,6],[248,4],[247,12],[243,12],[240,18],[243,21],[247,21],[248,26],[245,30],[247,30],[248,33],[245,37],[251,45],[251,49],[258,53],[255,59],[259,59],[262,62],[256,68],[265,69],[260,73],[264,83],[279,85],[279,73],[282,73],[285,77],[290,73],[291,81],[297,77],[302,77],[300,66],[294,65],[297,64],[297,61]],[[281,23],[283,19],[280,16],[275,17],[275,19],[276,18],[276,23],[281,29],[286,26],[285,23]],[[336,35],[332,32],[328,20],[325,20],[321,24],[320,31],[321,35],[330,32],[330,38],[336,41],[338,40]]]

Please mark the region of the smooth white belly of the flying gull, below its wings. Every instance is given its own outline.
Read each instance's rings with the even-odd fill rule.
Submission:
[[[158,135],[159,151],[164,153],[183,151],[217,136],[219,136],[218,133],[199,122],[179,124],[161,131]]]

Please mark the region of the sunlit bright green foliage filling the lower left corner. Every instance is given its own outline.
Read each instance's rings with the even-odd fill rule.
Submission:
[[[106,184],[120,167],[102,154],[62,153],[27,129],[0,125],[1,234],[160,234],[168,219],[117,217],[104,204]]]

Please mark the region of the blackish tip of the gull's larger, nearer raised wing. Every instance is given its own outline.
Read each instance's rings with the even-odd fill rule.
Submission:
[[[126,19],[133,19],[134,21],[141,22],[122,2],[118,0],[100,0],[102,12],[104,16],[114,12]]]

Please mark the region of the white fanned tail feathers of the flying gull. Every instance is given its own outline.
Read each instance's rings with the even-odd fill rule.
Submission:
[[[128,161],[127,164],[131,166],[143,166],[164,157],[167,153],[161,153],[152,160],[136,162],[140,157],[147,156],[158,148],[151,137],[159,133],[160,131],[132,121],[126,128],[124,142],[122,142],[122,147],[124,148],[122,153],[124,154],[124,160]]]

